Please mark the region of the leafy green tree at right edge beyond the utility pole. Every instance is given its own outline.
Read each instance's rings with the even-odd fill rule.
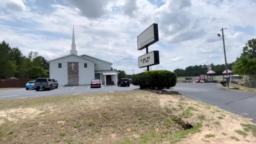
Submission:
[[[248,40],[240,58],[235,61],[233,71],[240,75],[245,73],[256,77],[256,39]]]

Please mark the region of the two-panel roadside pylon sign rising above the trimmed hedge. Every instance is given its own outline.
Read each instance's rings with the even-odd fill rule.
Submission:
[[[143,50],[146,48],[146,54],[139,56],[138,58],[139,68],[147,67],[147,71],[149,71],[149,66],[160,64],[159,51],[148,52],[148,46],[152,45],[158,40],[157,24],[152,24],[137,37],[138,50]]]

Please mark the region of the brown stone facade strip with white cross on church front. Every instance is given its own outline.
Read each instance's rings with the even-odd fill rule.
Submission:
[[[73,69],[73,67],[74,67],[74,69]],[[68,85],[79,85],[78,62],[68,62],[67,63],[67,77],[68,77]]]

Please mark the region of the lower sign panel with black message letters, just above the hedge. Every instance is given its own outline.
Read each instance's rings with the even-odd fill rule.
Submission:
[[[152,51],[138,58],[139,67],[147,67],[159,64],[159,51]]]

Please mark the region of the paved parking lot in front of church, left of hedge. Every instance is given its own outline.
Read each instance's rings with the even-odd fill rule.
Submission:
[[[40,97],[40,96],[62,96],[62,95],[77,95],[86,93],[114,93],[117,91],[132,91],[139,88],[136,85],[130,85],[130,87],[120,87],[116,85],[102,86],[101,88],[91,88],[90,85],[80,85],[72,87],[59,87],[51,91],[43,90],[35,91],[35,89],[26,90],[14,89],[8,91],[0,91],[0,99],[21,99],[30,97]]]

